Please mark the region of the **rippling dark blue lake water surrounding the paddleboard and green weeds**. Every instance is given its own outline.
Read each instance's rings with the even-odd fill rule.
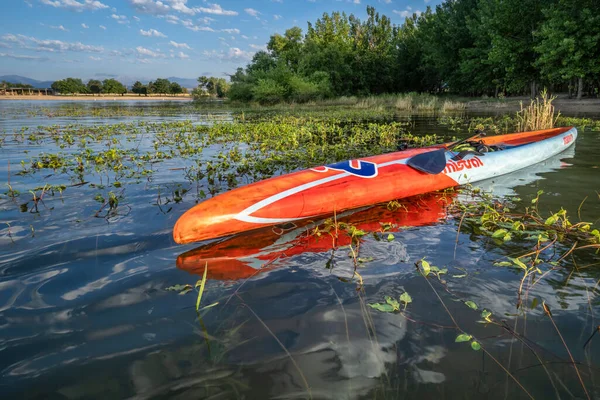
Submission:
[[[165,201],[190,186],[179,160],[165,160],[152,179],[136,175],[125,179],[138,181],[111,189],[122,199],[110,218],[102,217],[106,208],[99,213],[96,196],[108,196],[112,176],[90,186],[89,175],[79,185],[73,174],[52,169],[19,175],[22,160],[27,167],[49,151],[76,151],[28,139],[46,129],[40,127],[136,124],[139,131],[122,147],[151,149],[154,133],[144,131],[145,123],[232,118],[223,109],[123,107],[129,105],[147,111],[73,116],[61,114],[65,103],[0,102],[1,398],[585,398],[583,386],[600,397],[600,335],[583,347],[600,325],[600,259],[593,250],[545,268],[550,272],[535,277],[517,309],[523,274],[494,263],[531,251],[535,242],[457,235],[458,219],[443,218],[439,197],[425,197],[410,215],[375,208],[340,216],[357,227],[388,220],[402,227],[389,240],[387,232],[361,240],[358,290],[348,243],[333,250],[326,237],[299,239],[301,227],[175,244],[173,225],[195,204],[189,195]],[[436,117],[410,120],[413,132],[449,133]],[[572,221],[597,227],[598,154],[600,132],[580,131],[559,156],[481,186],[522,199],[517,208],[543,190],[541,213],[564,207]],[[44,184],[73,186],[36,203]],[[19,194],[5,194],[11,187]],[[448,269],[444,282],[416,272],[424,257]],[[167,288],[194,285],[206,260],[202,305],[218,304],[199,318],[195,291]],[[404,292],[412,297],[404,313],[368,306]],[[496,324],[479,322],[484,309]],[[456,326],[483,349],[457,343]]]

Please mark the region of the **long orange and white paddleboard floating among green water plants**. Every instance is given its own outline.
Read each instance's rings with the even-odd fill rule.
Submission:
[[[541,162],[571,146],[576,138],[574,127],[486,137],[481,139],[483,144],[502,144],[504,150],[467,154],[458,161],[453,160],[457,153],[447,150],[440,173],[415,169],[409,160],[439,152],[451,143],[293,172],[194,206],[175,224],[173,238],[177,243],[219,238],[474,183]]]

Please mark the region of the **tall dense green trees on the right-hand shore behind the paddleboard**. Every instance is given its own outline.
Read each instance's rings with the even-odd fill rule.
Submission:
[[[231,76],[232,100],[276,103],[400,92],[580,99],[600,89],[600,1],[446,0],[400,26],[334,12],[271,36]]]

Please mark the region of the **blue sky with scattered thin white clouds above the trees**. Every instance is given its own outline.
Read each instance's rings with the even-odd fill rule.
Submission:
[[[0,0],[0,75],[84,80],[223,76],[324,12],[395,24],[441,0]]]

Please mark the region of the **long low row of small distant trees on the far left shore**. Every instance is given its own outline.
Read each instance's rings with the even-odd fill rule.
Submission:
[[[79,78],[65,78],[52,83],[52,89],[62,94],[120,94],[127,93],[127,87],[116,79],[90,79],[84,83]],[[131,92],[138,95],[148,94],[180,94],[187,90],[177,82],[171,82],[168,79],[158,78],[144,85],[136,81],[131,86]]]

